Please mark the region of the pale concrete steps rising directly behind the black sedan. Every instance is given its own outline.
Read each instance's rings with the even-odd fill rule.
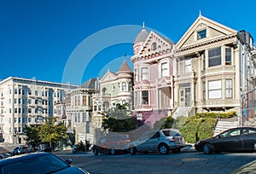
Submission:
[[[238,121],[235,120],[219,120],[213,132],[213,136],[217,136],[221,132],[235,128],[238,125]]]

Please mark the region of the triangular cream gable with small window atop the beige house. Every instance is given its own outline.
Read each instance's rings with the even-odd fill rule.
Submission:
[[[212,38],[227,36],[237,32],[236,30],[228,26],[224,26],[214,20],[210,20],[207,17],[204,17],[200,14],[198,18],[195,20],[195,22],[189,27],[188,31],[185,32],[183,37],[179,39],[179,41],[176,44],[176,49],[183,48],[183,46],[185,46],[186,44],[191,44],[191,42],[194,42],[195,31],[200,31],[203,28],[210,28],[215,33],[214,36],[211,36]],[[200,43],[201,40],[197,40],[195,42]]]

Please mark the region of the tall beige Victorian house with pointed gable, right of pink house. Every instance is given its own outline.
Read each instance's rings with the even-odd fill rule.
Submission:
[[[254,117],[253,38],[201,14],[176,44],[173,117],[236,111]]]

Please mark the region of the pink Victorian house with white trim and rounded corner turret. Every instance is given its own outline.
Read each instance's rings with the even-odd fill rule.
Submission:
[[[175,44],[156,32],[143,30],[133,44],[134,109],[137,119],[153,125],[174,107]]]

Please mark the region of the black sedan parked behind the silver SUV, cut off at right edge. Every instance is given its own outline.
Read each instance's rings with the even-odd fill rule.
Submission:
[[[195,143],[195,149],[205,154],[256,150],[256,128],[238,127]]]

